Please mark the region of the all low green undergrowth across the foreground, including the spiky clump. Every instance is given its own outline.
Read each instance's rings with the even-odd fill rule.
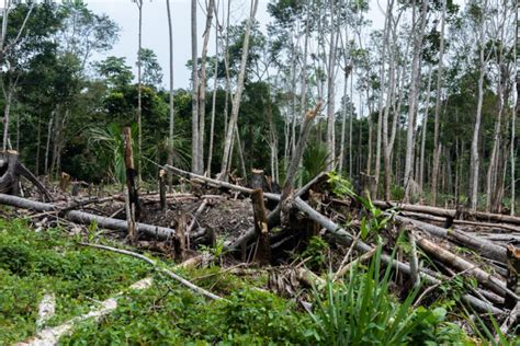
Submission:
[[[323,266],[325,257],[319,253],[326,246],[317,239],[310,243],[307,256]],[[151,288],[125,291],[133,282],[152,274],[146,263],[78,246],[60,229],[34,232],[24,221],[0,220],[0,343],[23,341],[36,333],[38,303],[46,292],[56,296],[56,314],[45,324],[53,326],[121,291],[125,293],[114,312],[98,322],[88,320],[78,324],[60,343],[475,343],[450,322],[455,316],[452,300],[439,301],[431,309],[411,308],[418,293],[415,290],[399,302],[391,288],[392,270],[382,269],[380,255],[381,249],[368,267],[354,266],[344,281],[328,280],[323,290],[315,289],[310,295],[312,313],[308,313],[294,300],[261,289],[267,282],[264,275],[238,277],[217,266],[181,269],[179,274],[225,297],[225,301],[208,301],[157,274]],[[481,339],[489,341],[494,335],[483,320],[471,325],[481,331],[477,332]]]

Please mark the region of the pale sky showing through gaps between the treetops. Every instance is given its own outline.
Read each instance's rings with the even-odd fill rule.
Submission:
[[[382,3],[385,0],[381,0]],[[94,59],[103,59],[105,56],[125,57],[127,65],[135,68],[138,46],[138,10],[131,0],[86,0],[89,9],[94,13],[108,14],[121,27],[120,41],[111,51]],[[201,0],[199,0],[200,3]],[[224,3],[224,1],[218,1]],[[268,0],[260,0],[256,19],[261,27],[271,21],[267,11]],[[374,27],[383,26],[376,0],[370,0],[371,11],[369,18]],[[191,58],[191,0],[170,0],[173,23],[173,80],[174,88],[189,88],[190,70],[185,67]],[[222,4],[221,4],[222,9]],[[249,14],[249,1],[236,0],[231,2],[231,24],[238,23]],[[197,34],[199,54],[202,50],[202,34],[204,32],[205,15],[201,5],[197,9]],[[212,31],[214,33],[214,31]],[[211,36],[208,55],[215,51],[213,35]],[[168,83],[169,73],[169,43],[168,43],[168,15],[166,0],[144,0],[143,4],[143,47],[152,49],[162,67],[162,84]]]

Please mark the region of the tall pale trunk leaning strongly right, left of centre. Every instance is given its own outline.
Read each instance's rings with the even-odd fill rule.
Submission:
[[[240,101],[241,101],[242,89],[244,89],[244,80],[246,78],[246,65],[247,65],[247,57],[249,54],[249,35],[251,33],[251,26],[255,20],[255,15],[257,13],[257,9],[258,9],[258,0],[251,0],[250,15],[247,21],[246,33],[244,36],[242,56],[240,60],[240,71],[238,73],[237,90],[235,92],[235,96],[233,97],[231,116],[229,118],[226,139],[224,142],[224,153],[222,157],[222,169],[221,169],[221,176],[219,176],[221,180],[226,178],[227,176],[226,173],[228,171],[228,165],[230,161],[231,142],[233,142],[234,134],[235,134],[235,128],[237,126],[238,112],[240,111]]]

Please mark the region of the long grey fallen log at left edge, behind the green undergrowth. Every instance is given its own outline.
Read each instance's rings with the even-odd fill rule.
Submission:
[[[54,205],[5,194],[0,194],[0,204],[22,209],[35,210],[38,212],[49,211],[60,214],[60,209]],[[79,210],[65,210],[61,217],[69,221],[81,224],[90,224],[92,222],[95,222],[100,228],[115,231],[126,232],[128,227],[126,220],[106,218]],[[144,233],[148,237],[152,237],[159,240],[171,239],[176,235],[174,230],[165,227],[136,222],[136,228],[138,233]]]

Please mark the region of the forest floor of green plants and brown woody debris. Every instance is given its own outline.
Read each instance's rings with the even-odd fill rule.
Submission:
[[[72,197],[49,187],[58,204],[88,195],[83,192],[83,196]],[[26,194],[35,197],[31,191]],[[122,195],[97,198],[102,203],[81,209],[125,219]],[[385,240],[385,244],[377,246],[372,261],[359,261],[342,279],[335,280],[336,268],[361,253],[327,234],[312,238],[305,247],[296,244],[284,251],[274,265],[259,265],[245,261],[244,255],[227,254],[224,246],[225,241],[233,242],[253,226],[249,198],[210,188],[168,194],[167,199],[168,208],[162,211],[158,195],[143,194],[140,221],[173,229],[185,218],[185,223],[195,221],[194,230],[213,234],[195,239],[191,249],[188,244],[183,258],[177,261],[168,241],[142,240],[131,246],[124,233],[100,229],[95,222],[81,226],[59,215],[2,206],[0,344],[520,345],[515,337],[518,327],[508,336],[497,332],[504,315],[476,313],[460,303],[462,295],[478,288],[474,278],[455,275],[423,297],[426,284],[414,289],[403,274],[389,266],[384,269],[383,247],[394,249],[392,256],[400,260],[410,254],[408,240],[393,227],[374,223],[381,223],[381,218],[369,220],[351,214],[343,201],[327,215],[352,231],[378,228],[366,241]],[[204,200],[208,207],[197,214]],[[477,253],[428,234],[425,238],[496,274]],[[86,243],[139,253],[155,266]],[[201,256],[199,265],[184,265]],[[440,265],[425,252],[420,258],[425,267]],[[179,284],[165,270],[217,299]]]

